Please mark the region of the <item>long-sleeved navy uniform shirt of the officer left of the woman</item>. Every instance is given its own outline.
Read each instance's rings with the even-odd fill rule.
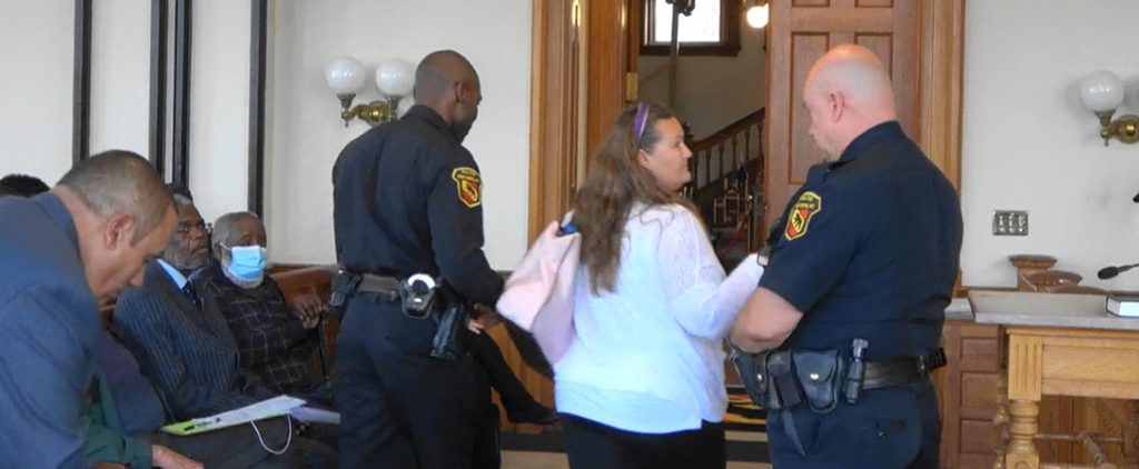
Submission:
[[[502,279],[483,254],[475,158],[434,109],[349,143],[333,168],[336,252],[344,268],[400,279],[442,275],[464,298],[493,305]]]

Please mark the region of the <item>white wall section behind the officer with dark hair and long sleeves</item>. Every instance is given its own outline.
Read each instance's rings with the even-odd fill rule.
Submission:
[[[513,269],[526,249],[530,141],[528,1],[439,0],[273,2],[270,46],[268,227],[277,262],[335,260],[331,167],[364,132],[344,129],[323,69],[347,55],[366,65],[387,57],[416,63],[456,49],[477,68],[484,100],[465,142],[482,168],[486,254]],[[369,74],[358,99],[378,97]]]

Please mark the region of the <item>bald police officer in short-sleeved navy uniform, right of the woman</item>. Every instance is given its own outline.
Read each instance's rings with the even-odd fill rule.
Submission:
[[[872,52],[830,50],[811,68],[803,97],[811,135],[837,159],[813,166],[789,201],[731,340],[748,352],[838,351],[849,361],[862,339],[867,381],[829,412],[809,402],[769,412],[772,461],[936,468],[941,426],[925,371],[957,278],[960,203],[902,132],[888,72]],[[891,369],[870,386],[870,371]],[[825,379],[800,375],[798,382]]]

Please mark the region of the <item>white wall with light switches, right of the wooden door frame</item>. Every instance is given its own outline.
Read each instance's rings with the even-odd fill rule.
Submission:
[[[1092,3],[1095,6],[1092,7]],[[1097,69],[1139,79],[1134,0],[973,1],[966,8],[962,282],[1013,286],[1014,254],[1047,254],[1084,285],[1104,265],[1139,262],[1139,146],[1104,148],[1074,83]],[[1133,94],[1124,113],[1139,113]],[[1029,211],[1027,237],[993,237],[994,209]]]

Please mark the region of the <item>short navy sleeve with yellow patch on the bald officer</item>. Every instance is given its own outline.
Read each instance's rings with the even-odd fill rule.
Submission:
[[[786,228],[772,246],[764,287],[806,313],[843,275],[877,209],[872,189],[806,190],[790,200]]]

